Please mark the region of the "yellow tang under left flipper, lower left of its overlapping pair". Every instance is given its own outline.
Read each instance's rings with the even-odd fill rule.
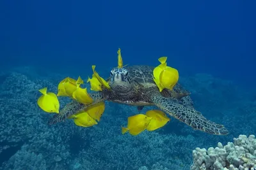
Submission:
[[[74,123],[77,126],[81,126],[81,127],[90,127],[90,126],[98,124],[96,122],[96,120],[94,120],[92,117],[90,117],[90,115],[86,111],[79,111],[76,114],[71,115],[68,118],[73,118]]]

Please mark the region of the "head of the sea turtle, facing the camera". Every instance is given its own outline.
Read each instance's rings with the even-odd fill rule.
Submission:
[[[125,68],[114,68],[110,71],[109,85],[118,92],[129,92],[132,89],[131,77]]]

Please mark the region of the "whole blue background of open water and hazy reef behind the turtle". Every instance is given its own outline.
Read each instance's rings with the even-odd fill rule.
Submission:
[[[1,169],[189,169],[196,147],[256,134],[255,1],[0,1]],[[195,109],[225,125],[213,136],[175,118],[121,134],[136,107],[106,103],[98,125],[48,125],[38,89],[63,78],[104,78],[124,64],[168,65]],[[60,97],[61,108],[70,102]],[[152,109],[147,107],[145,111]]]

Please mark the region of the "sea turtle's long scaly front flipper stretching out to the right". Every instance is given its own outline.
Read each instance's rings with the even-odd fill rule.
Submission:
[[[207,120],[199,111],[182,106],[172,99],[156,95],[152,96],[152,102],[164,112],[193,127],[193,129],[204,131],[209,134],[228,134],[228,130],[224,127],[224,125],[211,122],[210,120]]]

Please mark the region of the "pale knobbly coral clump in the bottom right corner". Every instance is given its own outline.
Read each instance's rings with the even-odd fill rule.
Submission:
[[[223,146],[220,142],[216,148],[196,148],[193,150],[193,165],[196,169],[256,169],[256,139],[254,135],[248,138],[239,135],[234,143]]]

